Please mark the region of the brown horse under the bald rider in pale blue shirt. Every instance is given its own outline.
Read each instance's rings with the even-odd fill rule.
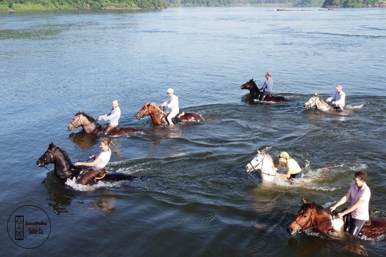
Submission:
[[[89,134],[98,134],[102,133],[105,129],[104,126],[101,126],[98,121],[96,121],[90,115],[87,115],[83,111],[79,111],[75,114],[75,117],[68,124],[68,130],[73,131],[76,127],[82,126],[83,130]],[[119,136],[123,134],[129,134],[139,131],[135,127],[121,127],[119,130],[112,131],[109,136]]]

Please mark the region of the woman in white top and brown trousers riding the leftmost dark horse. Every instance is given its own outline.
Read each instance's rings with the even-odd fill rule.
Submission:
[[[110,157],[111,157],[111,150],[109,146],[112,143],[113,142],[111,142],[108,139],[103,139],[100,146],[102,149],[102,152],[98,156],[95,156],[95,155],[90,156],[90,159],[91,158],[95,159],[93,162],[91,163],[77,162],[74,164],[75,166],[83,165],[83,166],[91,167],[91,169],[86,174],[84,174],[83,177],[81,177],[81,179],[78,182],[79,184],[82,184],[82,185],[92,184],[96,176],[105,172],[105,167],[107,163],[110,161]]]

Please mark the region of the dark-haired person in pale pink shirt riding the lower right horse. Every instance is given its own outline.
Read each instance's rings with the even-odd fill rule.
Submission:
[[[363,224],[369,220],[368,203],[370,201],[370,189],[365,181],[367,174],[364,171],[358,171],[354,174],[354,182],[350,189],[340,201],[331,207],[331,211],[344,204],[351,197],[351,206],[346,210],[339,212],[338,217],[351,213],[350,231],[352,235],[357,235]]]

